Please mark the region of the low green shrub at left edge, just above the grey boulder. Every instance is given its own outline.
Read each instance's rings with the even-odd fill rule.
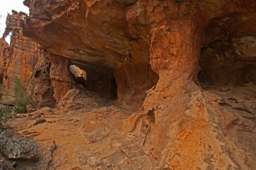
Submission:
[[[0,128],[2,128],[3,123],[13,118],[13,109],[10,106],[0,104]]]

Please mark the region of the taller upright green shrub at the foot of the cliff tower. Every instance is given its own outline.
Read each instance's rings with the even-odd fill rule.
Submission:
[[[14,78],[14,109],[18,113],[26,113],[27,105],[36,109],[38,103],[33,100],[34,92],[28,93],[27,88],[23,85],[18,77]]]

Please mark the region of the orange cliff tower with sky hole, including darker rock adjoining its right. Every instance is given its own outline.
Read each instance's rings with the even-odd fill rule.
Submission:
[[[14,79],[17,77],[34,98],[39,107],[55,105],[50,80],[50,61],[47,52],[39,49],[39,44],[23,36],[20,25],[23,24],[25,13],[13,11],[6,18],[6,28],[0,39],[0,81],[5,85],[7,96],[14,96]],[[11,34],[10,45],[4,38]],[[12,103],[12,100],[5,101]]]

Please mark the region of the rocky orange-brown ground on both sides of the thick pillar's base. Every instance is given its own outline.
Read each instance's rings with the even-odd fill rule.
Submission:
[[[221,150],[228,152],[236,163],[236,167],[230,169],[251,167],[253,170],[256,166],[252,159],[256,154],[256,85],[203,84],[202,87],[209,126],[222,131],[219,136]],[[69,100],[72,97],[69,96]],[[155,119],[153,114],[133,113],[110,101],[103,102],[97,96],[92,98],[95,103],[106,104],[92,106],[92,102],[87,101],[80,108],[42,108],[34,113],[20,114],[9,122],[17,133],[32,137],[39,145],[37,157],[16,161],[16,170],[177,170],[161,165],[152,153],[143,149],[154,127],[151,125]],[[77,105],[76,102],[81,102],[79,99],[69,101],[69,105]],[[144,120],[139,122],[139,119]],[[189,131],[190,127],[184,128]],[[209,144],[204,147],[212,149]],[[215,169],[215,155],[204,156],[208,169]]]

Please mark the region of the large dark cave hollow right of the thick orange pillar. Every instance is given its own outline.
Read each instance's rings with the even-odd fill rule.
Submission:
[[[208,23],[199,60],[201,84],[256,84],[256,35],[239,32],[244,25],[238,19],[226,16]]]

